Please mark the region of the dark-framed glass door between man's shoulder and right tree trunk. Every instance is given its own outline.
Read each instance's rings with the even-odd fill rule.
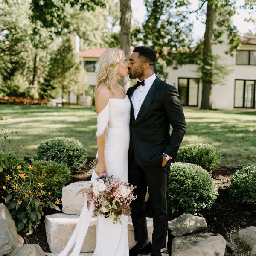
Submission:
[[[183,106],[198,106],[198,78],[179,78],[178,90]]]

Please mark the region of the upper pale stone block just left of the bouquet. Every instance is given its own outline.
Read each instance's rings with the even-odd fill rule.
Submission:
[[[86,201],[86,197],[79,194],[80,189],[90,186],[90,181],[78,181],[75,183],[71,183],[68,186],[65,186],[62,189],[62,212],[67,214],[77,214],[80,215],[81,210],[84,206],[84,202]]]

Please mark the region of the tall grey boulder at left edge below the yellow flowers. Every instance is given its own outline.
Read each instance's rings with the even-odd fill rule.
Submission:
[[[12,215],[4,204],[0,204],[0,256],[21,246],[24,240],[17,234]]]

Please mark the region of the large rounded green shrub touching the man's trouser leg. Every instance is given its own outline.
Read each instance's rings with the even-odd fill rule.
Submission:
[[[210,208],[218,193],[211,175],[195,164],[171,165],[168,184],[169,207],[172,212],[196,214]]]

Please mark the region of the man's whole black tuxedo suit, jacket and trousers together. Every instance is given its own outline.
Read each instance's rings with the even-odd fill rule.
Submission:
[[[127,91],[130,102],[135,89],[136,87],[131,87]],[[167,183],[171,161],[163,168],[162,153],[174,159],[185,132],[186,122],[179,94],[172,85],[156,78],[136,119],[131,102],[128,181],[136,186],[134,194],[137,196],[131,203],[131,217],[135,240],[147,240],[144,200],[148,188],[153,208],[153,249],[165,247],[167,234]]]

